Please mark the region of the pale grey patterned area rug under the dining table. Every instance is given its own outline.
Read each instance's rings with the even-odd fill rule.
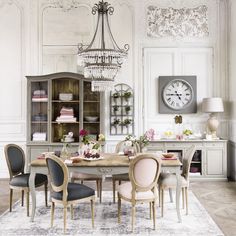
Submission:
[[[164,217],[157,208],[156,230],[149,219],[149,205],[139,204],[136,208],[135,235],[183,235],[183,236],[220,236],[224,235],[206,210],[189,192],[189,215],[181,209],[182,223],[178,223],[175,203],[169,202],[166,191]],[[66,235],[128,235],[131,232],[131,204],[122,201],[121,224],[117,223],[117,204],[112,202],[112,192],[103,192],[103,203],[95,205],[95,228],[91,227],[90,203],[75,206],[74,220],[67,214]],[[25,207],[20,202],[13,212],[5,212],[0,217],[0,235],[63,235],[63,210],[56,205],[54,227],[50,228],[50,207],[44,205],[43,192],[37,192],[37,210],[34,222],[26,216]]]

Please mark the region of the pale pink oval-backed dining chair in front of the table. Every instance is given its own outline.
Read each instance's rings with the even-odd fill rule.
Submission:
[[[123,199],[132,204],[132,231],[134,229],[135,205],[137,203],[149,203],[152,206],[153,227],[156,228],[157,180],[160,175],[160,168],[160,160],[156,155],[139,154],[130,163],[130,182],[123,183],[117,188],[118,222],[120,223],[121,199]]]

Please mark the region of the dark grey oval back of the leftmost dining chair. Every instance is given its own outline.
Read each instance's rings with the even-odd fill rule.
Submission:
[[[8,144],[4,147],[4,152],[10,180],[15,175],[24,174],[25,153],[23,149],[16,144]]]

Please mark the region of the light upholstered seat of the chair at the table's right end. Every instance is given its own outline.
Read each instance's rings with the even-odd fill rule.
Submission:
[[[161,173],[158,180],[158,184],[161,184],[161,186],[164,188],[175,188],[176,181],[176,175]],[[188,187],[188,181],[183,176],[180,177],[180,186],[181,188]]]

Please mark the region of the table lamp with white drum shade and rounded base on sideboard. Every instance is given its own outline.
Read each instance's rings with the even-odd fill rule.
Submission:
[[[211,132],[212,139],[218,139],[216,131],[219,126],[219,121],[217,120],[216,113],[224,111],[222,98],[203,98],[202,111],[211,113],[209,119],[207,120],[207,127]]]

